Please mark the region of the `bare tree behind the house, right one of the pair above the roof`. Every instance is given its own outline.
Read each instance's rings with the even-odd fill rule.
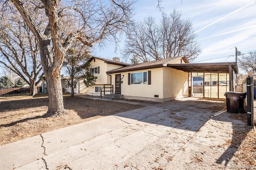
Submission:
[[[175,9],[170,16],[162,14],[160,32],[163,58],[185,55],[191,60],[201,52],[196,42],[197,36],[192,30],[192,22],[181,17],[181,12]]]

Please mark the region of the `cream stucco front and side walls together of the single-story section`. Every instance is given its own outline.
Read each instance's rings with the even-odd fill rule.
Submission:
[[[151,71],[151,85],[128,85],[128,73]],[[112,84],[116,74],[124,75],[121,84],[121,94],[125,99],[139,99],[149,101],[169,101],[188,96],[188,73],[168,67],[113,73]],[[158,95],[158,97],[155,97]]]

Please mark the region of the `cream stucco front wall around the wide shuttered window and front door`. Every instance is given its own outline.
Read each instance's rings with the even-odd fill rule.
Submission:
[[[138,84],[138,85],[128,85],[128,73],[137,73],[143,71],[151,71],[151,85],[148,84]],[[112,84],[115,84],[115,75],[119,73],[112,74]],[[163,98],[163,86],[162,86],[162,68],[155,69],[145,69],[139,71],[129,71],[120,73],[123,83],[121,84],[121,94],[127,97],[143,97],[143,98]],[[115,88],[115,87],[114,87]],[[158,95],[158,97],[154,97]],[[145,99],[146,100],[146,99]]]

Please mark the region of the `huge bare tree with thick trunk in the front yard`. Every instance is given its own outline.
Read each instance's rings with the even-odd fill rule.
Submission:
[[[131,22],[132,4],[128,0],[2,0],[2,14],[22,16],[40,49],[48,89],[48,112],[64,112],[61,75],[65,53],[74,39],[88,47],[117,41],[116,34]],[[36,14],[42,14],[37,16]]]

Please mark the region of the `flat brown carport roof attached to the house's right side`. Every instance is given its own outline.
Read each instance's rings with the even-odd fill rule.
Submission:
[[[238,66],[236,62],[225,63],[183,63],[168,64],[170,68],[193,73],[229,73],[229,67],[238,74]]]

